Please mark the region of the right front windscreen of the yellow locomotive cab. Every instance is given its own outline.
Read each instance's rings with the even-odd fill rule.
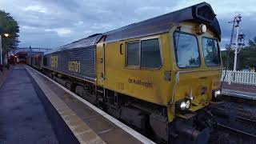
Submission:
[[[212,38],[202,38],[202,49],[206,66],[219,66],[221,61],[219,58],[218,42]]]

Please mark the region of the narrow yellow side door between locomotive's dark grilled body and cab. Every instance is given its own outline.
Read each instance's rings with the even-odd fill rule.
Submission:
[[[96,47],[96,71],[97,71],[97,85],[103,86],[105,80],[105,41],[106,36],[98,42]]]

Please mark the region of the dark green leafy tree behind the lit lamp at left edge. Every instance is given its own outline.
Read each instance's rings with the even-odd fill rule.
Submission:
[[[0,10],[0,34],[8,33],[8,38],[2,38],[2,52],[5,54],[11,46],[18,46],[18,22],[9,13]]]

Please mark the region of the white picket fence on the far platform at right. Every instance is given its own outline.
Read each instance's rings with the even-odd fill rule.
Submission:
[[[255,72],[245,72],[245,71],[233,71],[233,70],[223,70],[222,79],[225,75],[224,82],[230,83],[240,83],[246,85],[255,85],[256,86],[256,73]]]

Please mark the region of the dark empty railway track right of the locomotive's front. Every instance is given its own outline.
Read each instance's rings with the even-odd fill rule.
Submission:
[[[211,143],[256,143],[255,102],[225,96],[221,99],[221,104],[210,106],[218,122],[218,134]]]

